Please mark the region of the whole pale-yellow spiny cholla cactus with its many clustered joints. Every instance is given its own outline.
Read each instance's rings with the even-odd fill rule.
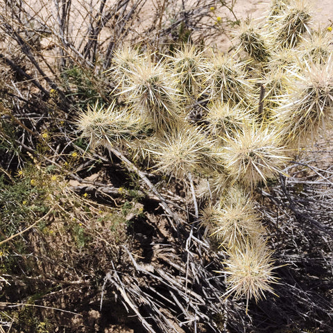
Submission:
[[[117,106],[97,105],[78,119],[94,146],[145,142],[156,173],[206,184],[196,189],[200,219],[225,251],[226,294],[247,302],[276,282],[256,189],[332,124],[331,46],[321,32],[318,42],[310,19],[303,0],[273,1],[264,23],[241,28],[234,54],[193,45],[167,55],[115,51]],[[200,103],[203,115],[190,123]]]

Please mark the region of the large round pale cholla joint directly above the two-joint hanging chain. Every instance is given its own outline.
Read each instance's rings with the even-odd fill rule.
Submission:
[[[280,133],[272,128],[246,127],[225,139],[223,164],[234,180],[254,188],[286,162]]]

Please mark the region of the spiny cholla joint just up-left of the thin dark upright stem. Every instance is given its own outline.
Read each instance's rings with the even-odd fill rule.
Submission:
[[[235,60],[228,54],[217,53],[211,62],[203,65],[205,80],[205,93],[213,101],[237,104],[248,99],[252,90],[250,80],[246,79],[246,64]]]

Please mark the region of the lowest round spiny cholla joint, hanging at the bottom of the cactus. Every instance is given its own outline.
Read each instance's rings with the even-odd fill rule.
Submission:
[[[234,294],[236,298],[246,297],[246,311],[251,298],[266,298],[264,291],[273,293],[271,283],[277,283],[273,275],[273,259],[262,239],[257,239],[244,248],[233,248],[225,260],[225,273],[228,275],[228,289],[225,295]]]

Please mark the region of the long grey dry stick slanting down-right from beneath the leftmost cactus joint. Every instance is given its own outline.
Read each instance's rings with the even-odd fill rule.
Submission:
[[[119,151],[117,151],[117,149],[115,148],[112,148],[112,147],[108,147],[109,151],[111,153],[113,153],[114,155],[116,155],[117,157],[119,157],[120,160],[122,160],[126,166],[128,167],[128,169],[130,171],[135,171],[139,177],[144,180],[144,182],[146,183],[146,185],[148,185],[149,189],[151,189],[151,191],[153,191],[153,194],[155,194],[155,196],[157,196],[157,198],[159,198],[161,200],[161,205],[164,209],[164,211],[169,214],[169,216],[171,216],[173,218],[174,221],[176,221],[177,224],[180,224],[180,219],[178,219],[178,217],[172,212],[172,210],[170,209],[170,207],[167,205],[167,202],[166,200],[163,198],[163,196],[160,194],[159,191],[157,191],[156,187],[153,185],[153,183],[148,180],[148,178],[146,178],[146,176],[144,176],[144,173],[139,170],[137,167],[135,167],[135,165],[130,162],[130,160],[128,160],[122,153],[120,153]],[[171,225],[172,225],[172,228],[174,230],[177,230],[176,226],[172,223],[172,220],[169,219]]]

